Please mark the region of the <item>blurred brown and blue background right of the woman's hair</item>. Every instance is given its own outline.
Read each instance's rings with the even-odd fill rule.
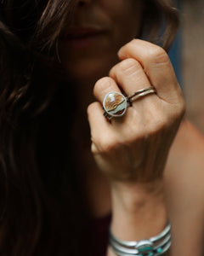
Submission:
[[[170,57],[184,90],[186,115],[204,134],[204,0],[178,0],[181,26]]]

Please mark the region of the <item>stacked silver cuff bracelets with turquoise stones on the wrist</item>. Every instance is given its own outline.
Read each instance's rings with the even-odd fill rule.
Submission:
[[[110,246],[118,256],[159,256],[171,247],[171,224],[158,236],[141,241],[121,241],[111,234]]]

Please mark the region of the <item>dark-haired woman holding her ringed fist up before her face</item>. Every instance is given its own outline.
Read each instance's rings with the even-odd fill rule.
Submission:
[[[156,236],[169,217],[175,230],[179,207],[169,193],[166,208],[163,173],[184,101],[166,52],[132,40],[159,43],[164,15],[168,49],[172,4],[4,0],[0,12],[1,255],[105,255],[93,219],[110,213],[121,240]],[[150,95],[130,98],[122,117],[103,116],[108,93],[127,100],[143,89]],[[179,137],[166,167],[170,192]],[[173,255],[187,255],[174,244]]]

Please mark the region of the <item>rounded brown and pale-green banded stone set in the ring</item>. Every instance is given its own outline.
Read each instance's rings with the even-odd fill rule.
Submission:
[[[120,117],[126,112],[127,99],[121,93],[113,91],[105,96],[103,106],[108,115]]]

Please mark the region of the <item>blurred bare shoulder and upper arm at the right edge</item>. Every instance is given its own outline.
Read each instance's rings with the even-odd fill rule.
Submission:
[[[173,255],[203,255],[203,152],[203,135],[184,119],[168,155],[164,180]]]

